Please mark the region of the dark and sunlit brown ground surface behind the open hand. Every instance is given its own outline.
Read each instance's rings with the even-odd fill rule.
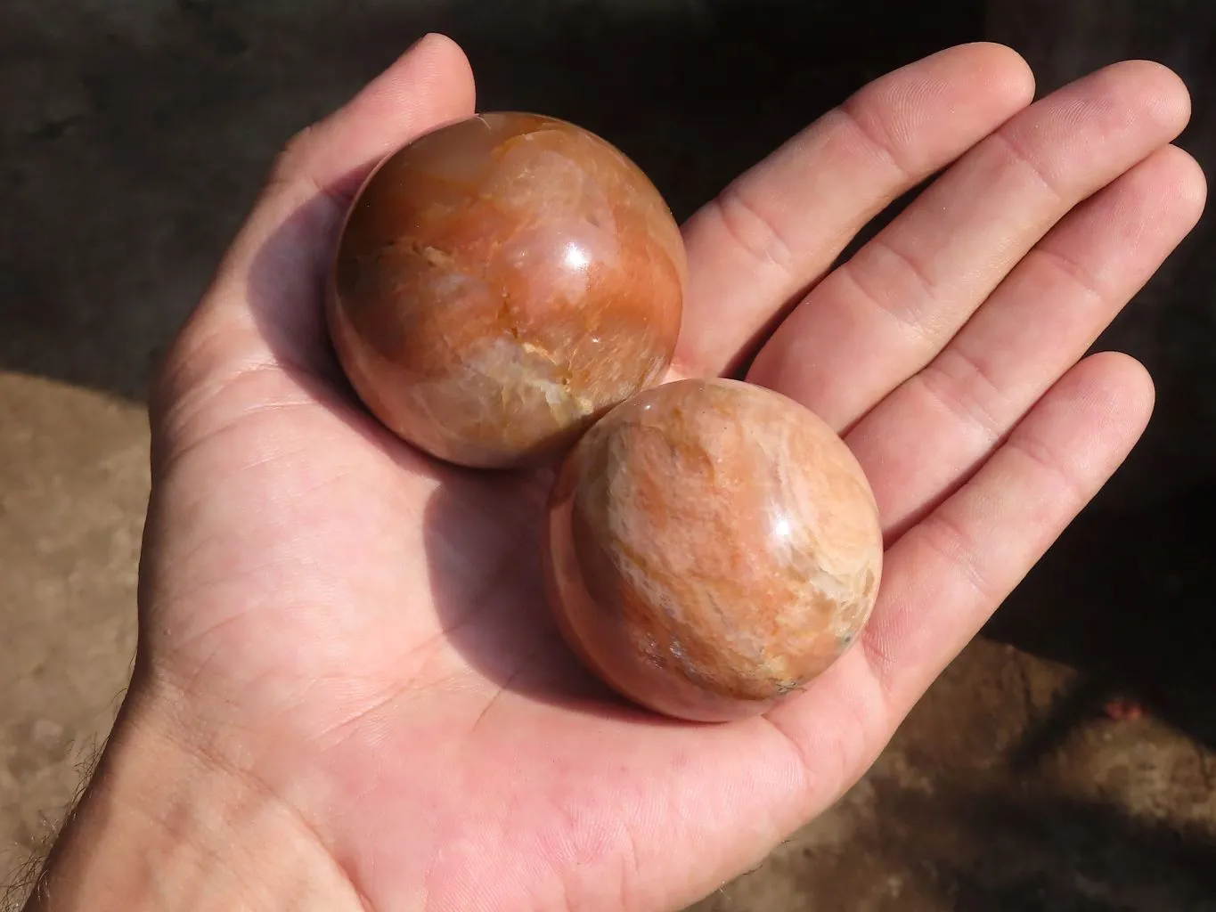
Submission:
[[[1216,174],[1198,0],[4,0],[0,882],[129,669],[150,362],[280,145],[426,30],[465,45],[483,108],[602,133],[681,216],[867,79],[981,36],[1042,89],[1173,66]],[[1160,390],[1116,483],[871,776],[703,912],[1216,910],[1214,271],[1207,219],[1103,340]],[[1147,714],[1108,711],[1128,698]]]

